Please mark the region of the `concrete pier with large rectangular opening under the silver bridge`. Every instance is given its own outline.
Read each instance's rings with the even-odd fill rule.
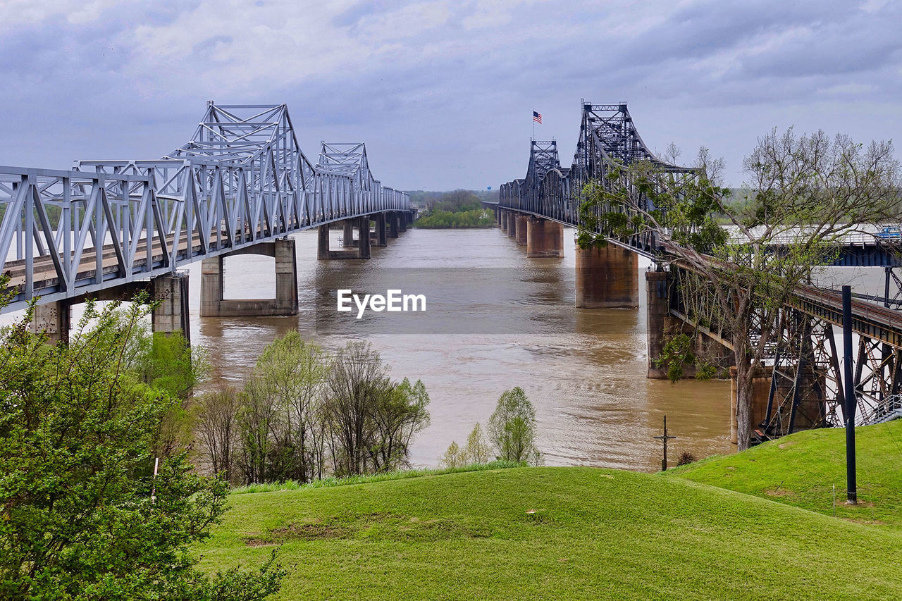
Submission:
[[[328,235],[328,232],[327,232]],[[322,234],[320,234],[322,236]],[[369,237],[366,236],[367,240]],[[275,258],[276,298],[223,299],[223,259],[235,254],[265,254]],[[204,259],[200,264],[200,316],[244,317],[298,314],[298,260],[294,240],[262,242],[229,254]]]

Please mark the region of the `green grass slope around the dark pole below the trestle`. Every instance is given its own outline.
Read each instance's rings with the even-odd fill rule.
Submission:
[[[845,430],[808,430],[744,453],[667,470],[695,482],[729,488],[855,522],[902,529],[902,421],[855,430],[858,505],[845,504]]]

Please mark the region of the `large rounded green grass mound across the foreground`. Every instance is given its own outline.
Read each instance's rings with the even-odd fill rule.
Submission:
[[[202,567],[281,545],[282,599],[902,596],[902,532],[588,467],[232,495]]]

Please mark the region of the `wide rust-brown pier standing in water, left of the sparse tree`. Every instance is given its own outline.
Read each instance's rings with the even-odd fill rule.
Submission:
[[[621,246],[576,246],[576,306],[639,307],[639,255]]]

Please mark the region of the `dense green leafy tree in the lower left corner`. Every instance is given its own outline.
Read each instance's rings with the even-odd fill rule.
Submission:
[[[225,511],[225,481],[195,474],[185,453],[153,477],[154,438],[179,400],[128,365],[143,300],[123,316],[88,302],[69,345],[30,334],[31,315],[0,336],[2,598],[259,599],[279,588],[272,559],[253,574],[196,568],[189,545]]]

